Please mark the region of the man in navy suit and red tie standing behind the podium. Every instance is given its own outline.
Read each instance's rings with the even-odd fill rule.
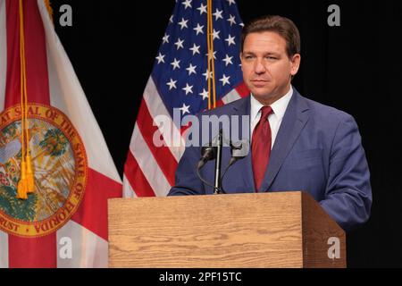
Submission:
[[[306,190],[344,230],[366,222],[372,190],[355,120],[349,114],[302,97],[291,86],[300,64],[295,24],[265,16],[242,31],[241,66],[251,91],[206,115],[248,115],[251,152],[228,169],[228,193]],[[243,134],[245,135],[245,134]],[[187,147],[169,195],[212,194],[197,177],[201,147]],[[222,166],[230,148],[222,151]],[[214,178],[214,162],[201,170]]]

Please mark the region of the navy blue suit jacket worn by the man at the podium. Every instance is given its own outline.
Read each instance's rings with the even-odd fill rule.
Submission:
[[[250,97],[206,114],[249,115]],[[169,196],[214,192],[197,178],[200,150],[200,147],[186,148]],[[222,168],[229,160],[230,147],[223,147]],[[213,182],[214,162],[205,164],[201,174]],[[250,152],[230,167],[222,185],[228,193],[255,192],[253,178]],[[295,88],[258,191],[284,190],[310,193],[347,231],[364,223],[370,215],[370,172],[355,120],[349,114],[302,97]]]

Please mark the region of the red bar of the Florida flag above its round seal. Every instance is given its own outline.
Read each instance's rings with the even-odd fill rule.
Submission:
[[[7,78],[4,108],[20,103],[20,14],[19,1],[7,0]],[[28,102],[50,105],[46,38],[37,0],[25,0],[24,32]]]

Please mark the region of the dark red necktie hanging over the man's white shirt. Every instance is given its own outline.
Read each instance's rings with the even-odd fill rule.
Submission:
[[[258,191],[264,179],[264,173],[268,167],[271,154],[271,126],[268,115],[272,114],[271,106],[261,108],[261,118],[253,131],[251,142],[251,156],[253,160],[253,172],[255,189]]]

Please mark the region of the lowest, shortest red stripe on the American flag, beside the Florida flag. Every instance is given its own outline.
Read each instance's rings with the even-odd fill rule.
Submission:
[[[142,172],[136,158],[131,154],[131,151],[129,151],[126,164],[124,164],[124,175],[138,197],[155,197],[154,190],[151,185],[149,185],[144,172]]]

